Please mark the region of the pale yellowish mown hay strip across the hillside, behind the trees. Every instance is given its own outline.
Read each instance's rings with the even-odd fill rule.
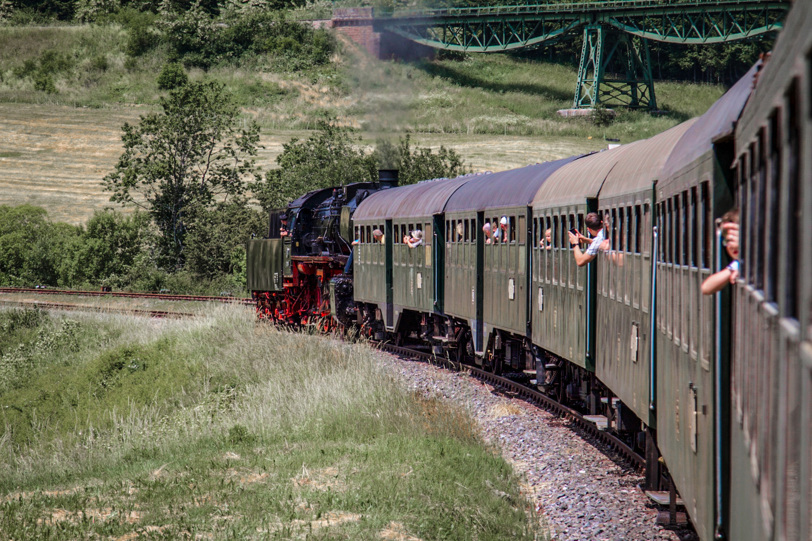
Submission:
[[[53,220],[80,224],[93,210],[112,205],[102,178],[113,170],[120,128],[137,122],[146,107],[83,109],[65,105],[0,103],[0,204],[44,207]],[[257,163],[274,167],[282,144],[308,131],[263,128]],[[391,134],[384,134],[391,135]],[[378,134],[368,134],[374,144]],[[577,137],[417,134],[422,146],[455,148],[474,170],[506,170],[600,148]]]

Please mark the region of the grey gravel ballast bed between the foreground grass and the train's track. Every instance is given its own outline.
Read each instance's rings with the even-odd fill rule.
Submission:
[[[692,530],[655,523],[658,509],[637,484],[641,474],[613,461],[599,442],[585,440],[566,419],[511,397],[467,372],[382,354],[383,363],[412,391],[468,408],[482,436],[502,450],[542,525],[556,540],[698,539]]]

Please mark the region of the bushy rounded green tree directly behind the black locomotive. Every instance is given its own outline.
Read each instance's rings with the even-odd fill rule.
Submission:
[[[279,208],[308,191],[378,178],[373,152],[360,148],[352,127],[339,127],[335,118],[318,123],[306,140],[293,138],[276,157],[279,169],[268,171],[265,182],[254,185],[262,208]],[[259,180],[259,179],[258,179]]]

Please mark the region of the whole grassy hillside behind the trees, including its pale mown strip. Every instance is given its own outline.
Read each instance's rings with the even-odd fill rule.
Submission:
[[[131,33],[121,24],[0,27],[0,204],[38,204],[71,223],[110,205],[100,182],[121,152],[120,127],[157,105],[169,58],[160,47],[131,56]],[[319,66],[291,69],[259,54],[192,68],[188,77],[226,84],[245,118],[261,124],[266,149],[257,161],[265,169],[283,143],[325,115],[360,128],[369,146],[411,132],[417,144],[455,148],[473,170],[505,170],[596,150],[604,137],[655,135],[723,93],[658,83],[667,114],[624,111],[596,127],[555,113],[572,103],[571,67],[501,54],[384,62],[337,39],[338,52]],[[45,71],[53,88],[37,90]]]

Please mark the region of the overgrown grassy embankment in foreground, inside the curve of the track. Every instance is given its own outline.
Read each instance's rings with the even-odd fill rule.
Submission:
[[[2,539],[544,539],[464,410],[363,343],[0,311]]]

